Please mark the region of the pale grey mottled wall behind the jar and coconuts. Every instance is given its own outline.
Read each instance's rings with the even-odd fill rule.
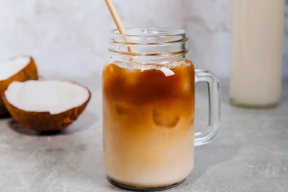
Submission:
[[[196,68],[229,76],[231,0],[114,3],[126,27],[185,29]],[[283,74],[288,76],[286,4]],[[104,0],[0,0],[0,61],[31,54],[45,76],[100,76],[113,28]]]

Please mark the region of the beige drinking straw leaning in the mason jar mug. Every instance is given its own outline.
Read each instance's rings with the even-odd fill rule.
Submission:
[[[119,16],[119,14],[115,8],[113,1],[112,0],[105,0],[105,2],[109,8],[109,11],[110,11],[113,19],[114,19],[114,22],[118,28],[119,33],[123,34],[123,35],[127,35],[126,29],[125,29],[125,27],[124,27],[124,25],[120,19],[120,16]],[[125,39],[125,41],[130,42],[128,37],[124,37],[124,39]],[[135,53],[134,47],[128,47],[128,51],[130,53]]]

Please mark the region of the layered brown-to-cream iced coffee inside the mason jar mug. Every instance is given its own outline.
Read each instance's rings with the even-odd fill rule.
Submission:
[[[107,176],[136,188],[181,183],[194,166],[194,66],[190,60],[103,69]]]

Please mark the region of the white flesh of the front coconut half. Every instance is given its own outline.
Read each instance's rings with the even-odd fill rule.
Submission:
[[[89,98],[89,91],[67,81],[14,81],[5,91],[8,103],[23,111],[59,114],[79,107]]]

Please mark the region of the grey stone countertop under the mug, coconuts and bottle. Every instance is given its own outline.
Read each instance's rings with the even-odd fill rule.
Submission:
[[[39,135],[13,119],[0,119],[1,192],[125,191],[105,178],[102,152],[101,85],[73,79],[92,92],[84,113],[65,131]],[[195,167],[179,186],[166,191],[288,191],[288,81],[281,104],[248,110],[228,104],[221,81],[221,130],[196,147]],[[207,124],[206,84],[196,84],[196,131]]]

